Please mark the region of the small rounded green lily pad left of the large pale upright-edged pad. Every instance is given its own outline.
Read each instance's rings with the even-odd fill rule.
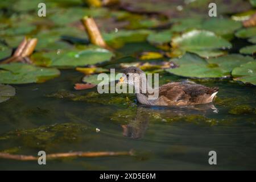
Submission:
[[[147,41],[151,44],[164,44],[171,42],[172,33],[170,30],[152,32],[147,36]]]

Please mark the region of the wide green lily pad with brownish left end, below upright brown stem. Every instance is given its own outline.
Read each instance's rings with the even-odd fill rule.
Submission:
[[[34,63],[47,67],[78,67],[109,61],[114,54],[103,48],[89,48],[82,51],[61,50],[39,52],[31,56]]]

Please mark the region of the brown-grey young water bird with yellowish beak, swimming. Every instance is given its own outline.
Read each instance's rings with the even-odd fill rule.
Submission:
[[[139,84],[139,92],[135,93],[137,101],[142,105],[156,106],[185,106],[207,104],[213,101],[218,93],[218,88],[210,88],[191,82],[169,82],[158,88],[158,97],[150,99],[152,93],[142,92],[142,83],[147,81],[141,78],[144,72],[137,67],[128,67],[123,71],[119,84],[135,86]],[[154,89],[154,90],[156,90]]]

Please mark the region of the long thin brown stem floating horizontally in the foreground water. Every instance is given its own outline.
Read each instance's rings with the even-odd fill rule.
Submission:
[[[132,156],[133,151],[124,151],[124,152],[68,152],[68,153],[56,153],[46,155],[46,159],[60,159],[60,158],[71,158],[71,157],[80,157],[80,158],[96,158],[104,156]],[[0,158],[2,159],[13,159],[13,160],[38,160],[39,156],[32,155],[14,155],[0,152]]]

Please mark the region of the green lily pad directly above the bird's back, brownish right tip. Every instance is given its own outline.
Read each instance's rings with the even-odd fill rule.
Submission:
[[[213,67],[199,56],[186,53],[180,59],[172,59],[178,68],[166,69],[167,72],[177,76],[195,78],[220,78],[227,77],[229,73],[219,67]]]

